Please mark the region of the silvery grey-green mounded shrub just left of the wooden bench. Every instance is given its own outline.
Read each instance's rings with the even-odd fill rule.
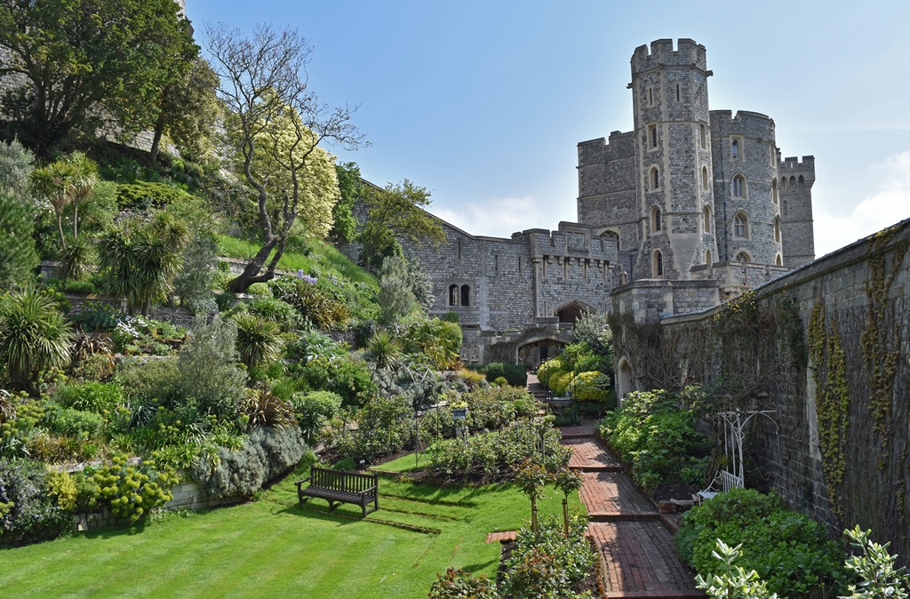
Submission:
[[[249,497],[262,485],[300,462],[307,444],[297,427],[258,428],[237,452],[219,449],[193,468],[193,478],[208,499]]]

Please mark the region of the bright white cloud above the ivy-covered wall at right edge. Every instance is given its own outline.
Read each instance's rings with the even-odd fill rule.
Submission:
[[[816,257],[910,218],[910,151],[889,157],[874,165],[873,170],[877,171],[878,180],[883,181],[882,186],[852,211],[831,213],[816,209]]]

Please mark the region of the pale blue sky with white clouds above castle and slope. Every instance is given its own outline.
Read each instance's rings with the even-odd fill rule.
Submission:
[[[815,248],[910,217],[910,3],[187,0],[205,24],[297,27],[310,86],[359,105],[365,178],[409,178],[431,211],[508,237],[575,220],[578,142],[632,128],[636,46],[707,47],[713,109],[773,117],[784,156],[814,155]]]

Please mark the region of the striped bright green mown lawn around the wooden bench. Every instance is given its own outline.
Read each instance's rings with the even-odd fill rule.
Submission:
[[[531,512],[511,485],[381,478],[380,510],[363,521],[354,506],[298,506],[298,476],[255,503],[0,550],[0,596],[425,597],[450,566],[495,576],[500,547],[486,533],[514,530]],[[561,493],[548,489],[539,506],[560,514]],[[583,511],[577,495],[571,506]]]

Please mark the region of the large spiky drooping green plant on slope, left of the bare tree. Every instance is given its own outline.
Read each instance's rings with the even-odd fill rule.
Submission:
[[[141,310],[147,316],[153,303],[167,299],[188,238],[186,224],[167,212],[158,212],[147,223],[128,222],[108,231],[98,241],[102,286],[126,300],[127,311]]]

